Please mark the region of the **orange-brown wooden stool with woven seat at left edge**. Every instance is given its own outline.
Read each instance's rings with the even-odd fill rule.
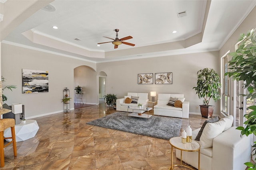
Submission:
[[[14,119],[0,119],[0,167],[4,167],[4,147],[12,143],[13,154],[17,156],[16,139],[15,139],[15,120]],[[8,127],[11,128],[12,137],[4,137],[4,130]],[[4,145],[4,139],[12,139],[9,143]]]

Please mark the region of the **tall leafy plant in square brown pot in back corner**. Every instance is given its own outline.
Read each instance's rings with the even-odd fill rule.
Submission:
[[[220,77],[214,69],[204,68],[197,72],[197,86],[193,87],[198,98],[204,98],[203,105],[200,105],[202,117],[211,118],[214,106],[209,106],[210,99],[214,102],[220,99],[218,90],[221,88]]]

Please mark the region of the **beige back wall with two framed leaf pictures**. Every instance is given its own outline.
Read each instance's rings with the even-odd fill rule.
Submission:
[[[151,101],[150,91],[156,91],[156,94],[180,93],[190,101],[190,113],[200,114],[196,107],[203,102],[192,88],[196,86],[197,71],[206,67],[220,74],[218,51],[98,63],[97,72],[107,74],[107,94],[114,93],[117,98],[123,98],[127,92],[144,92]],[[155,84],[155,73],[162,72],[172,72],[172,84]],[[154,84],[138,84],[138,74],[145,73],[154,74]],[[210,105],[215,106],[214,114],[219,113],[219,103],[210,101]]]

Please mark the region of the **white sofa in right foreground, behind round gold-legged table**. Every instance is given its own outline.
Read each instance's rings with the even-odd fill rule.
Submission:
[[[192,139],[196,138],[199,130],[200,128],[192,131]],[[243,135],[240,137],[240,135],[240,130],[237,130],[236,127],[230,127],[213,138],[212,147],[201,148],[200,170],[246,169],[247,166],[244,163],[250,162],[251,136]],[[198,143],[200,142],[198,141]],[[176,157],[180,159],[180,150],[178,149],[176,149]],[[198,152],[183,151],[182,161],[198,168]]]

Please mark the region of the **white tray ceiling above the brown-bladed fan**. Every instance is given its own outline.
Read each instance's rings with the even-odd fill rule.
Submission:
[[[39,10],[2,42],[95,62],[216,51],[256,1],[55,0],[50,4],[54,12]],[[177,13],[185,10],[187,16],[178,18]],[[97,47],[112,41],[103,36],[115,38],[114,29],[120,29],[119,38],[132,36],[126,42],[135,46]]]

